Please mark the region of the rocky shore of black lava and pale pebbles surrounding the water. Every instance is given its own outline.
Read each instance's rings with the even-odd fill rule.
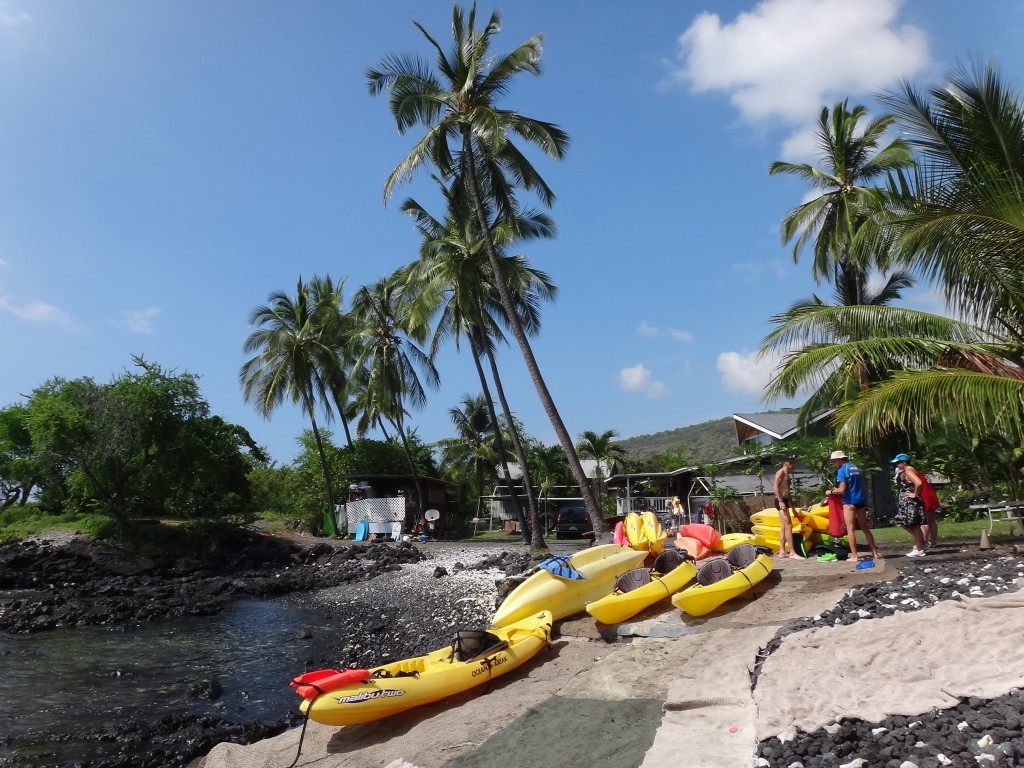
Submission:
[[[54,531],[0,545],[0,632],[118,628],[211,615],[240,599],[274,599],[313,608],[337,627],[332,655],[308,658],[306,670],[377,666],[443,645],[454,627],[485,627],[494,613],[498,583],[529,565],[522,548],[444,545],[443,554],[438,554],[430,552],[429,544],[286,540],[257,532],[211,557],[155,561],[74,531]],[[302,633],[300,629],[300,639]],[[196,698],[220,693],[216,681],[191,690]],[[51,744],[114,742],[118,754],[33,765],[180,768],[221,741],[252,743],[299,721],[296,708],[273,722],[174,714],[74,731],[54,724],[34,739]],[[10,737],[0,734],[0,746],[12,746]],[[4,768],[18,765],[0,757]]]

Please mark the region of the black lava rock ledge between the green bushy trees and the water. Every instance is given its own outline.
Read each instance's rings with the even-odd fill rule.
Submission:
[[[83,538],[0,546],[0,631],[210,615],[233,600],[370,581],[418,562],[409,544],[303,547],[249,535],[209,557],[136,557]]]

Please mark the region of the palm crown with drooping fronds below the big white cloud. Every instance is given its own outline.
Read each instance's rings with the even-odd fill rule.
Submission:
[[[864,106],[858,104],[848,110],[846,101],[836,103],[830,111],[822,108],[817,133],[821,167],[778,161],[768,171],[772,176],[778,173],[799,176],[821,191],[782,219],[782,242],[796,240],[794,261],[813,240],[815,280],[834,280],[838,263],[851,258],[866,269],[870,259],[858,257],[854,247],[859,241],[873,242],[864,229],[882,209],[885,196],[883,187],[864,183],[872,179],[884,181],[887,174],[913,163],[910,150],[901,138],[878,148],[895,118],[891,115],[874,118],[863,131],[858,131],[860,121],[866,116]],[[878,254],[871,256],[877,258]]]

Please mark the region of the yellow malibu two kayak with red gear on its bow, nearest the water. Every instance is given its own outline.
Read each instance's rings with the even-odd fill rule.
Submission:
[[[299,709],[324,725],[380,720],[420,705],[439,701],[531,658],[549,642],[551,613],[541,611],[488,632],[460,632],[451,646],[374,670],[321,670],[291,685]]]

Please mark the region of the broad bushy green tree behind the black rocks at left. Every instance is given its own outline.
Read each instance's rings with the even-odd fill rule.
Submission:
[[[251,514],[247,472],[263,460],[249,434],[209,415],[198,377],[135,357],[109,384],[53,379],[27,403],[40,508],[134,518]]]

